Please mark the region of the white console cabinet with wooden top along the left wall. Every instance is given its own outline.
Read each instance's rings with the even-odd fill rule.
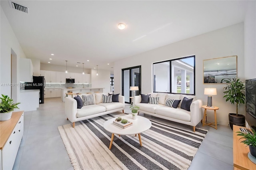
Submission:
[[[11,170],[22,140],[24,130],[23,111],[13,112],[12,118],[0,122],[0,170]]]

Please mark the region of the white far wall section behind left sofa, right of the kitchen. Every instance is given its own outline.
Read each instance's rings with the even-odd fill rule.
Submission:
[[[98,75],[96,75],[97,69],[92,69],[92,88],[104,88],[103,93],[110,93],[110,71],[98,69]]]

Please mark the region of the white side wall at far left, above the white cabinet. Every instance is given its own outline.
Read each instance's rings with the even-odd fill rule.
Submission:
[[[11,53],[17,56],[17,63],[19,63],[19,59],[26,58],[22,48],[20,47],[20,43],[18,42],[10,23],[8,22],[6,15],[1,7],[1,24],[0,24],[0,31],[1,31],[1,55],[0,55],[0,94],[11,96],[11,86],[5,86],[4,83],[11,83]],[[15,70],[15,69],[13,69]],[[19,83],[19,64],[17,64],[16,74],[17,75],[17,82],[12,83]],[[12,94],[14,98],[14,102],[19,100],[19,90],[20,87],[16,87],[16,91]],[[16,101],[17,100],[17,101]]]

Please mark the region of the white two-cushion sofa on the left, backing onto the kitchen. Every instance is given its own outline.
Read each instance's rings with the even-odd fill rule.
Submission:
[[[73,123],[75,127],[76,121],[83,121],[93,117],[106,115],[116,111],[122,111],[124,113],[124,96],[118,96],[119,102],[102,103],[102,94],[108,96],[108,93],[94,93],[94,94],[81,94],[79,95],[83,99],[83,95],[93,95],[94,104],[83,106],[81,109],[77,109],[77,101],[72,97],[65,98],[65,114],[67,120]]]

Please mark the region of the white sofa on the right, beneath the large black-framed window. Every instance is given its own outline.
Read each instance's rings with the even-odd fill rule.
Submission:
[[[142,112],[148,115],[167,119],[170,121],[183,123],[194,127],[203,119],[202,100],[196,100],[192,95],[179,95],[170,93],[149,93],[151,97],[159,97],[158,104],[140,103],[141,95],[135,96],[133,105],[140,107],[138,113]],[[190,111],[181,109],[183,98],[192,99]],[[177,108],[172,108],[165,105],[167,99],[181,100]]]

